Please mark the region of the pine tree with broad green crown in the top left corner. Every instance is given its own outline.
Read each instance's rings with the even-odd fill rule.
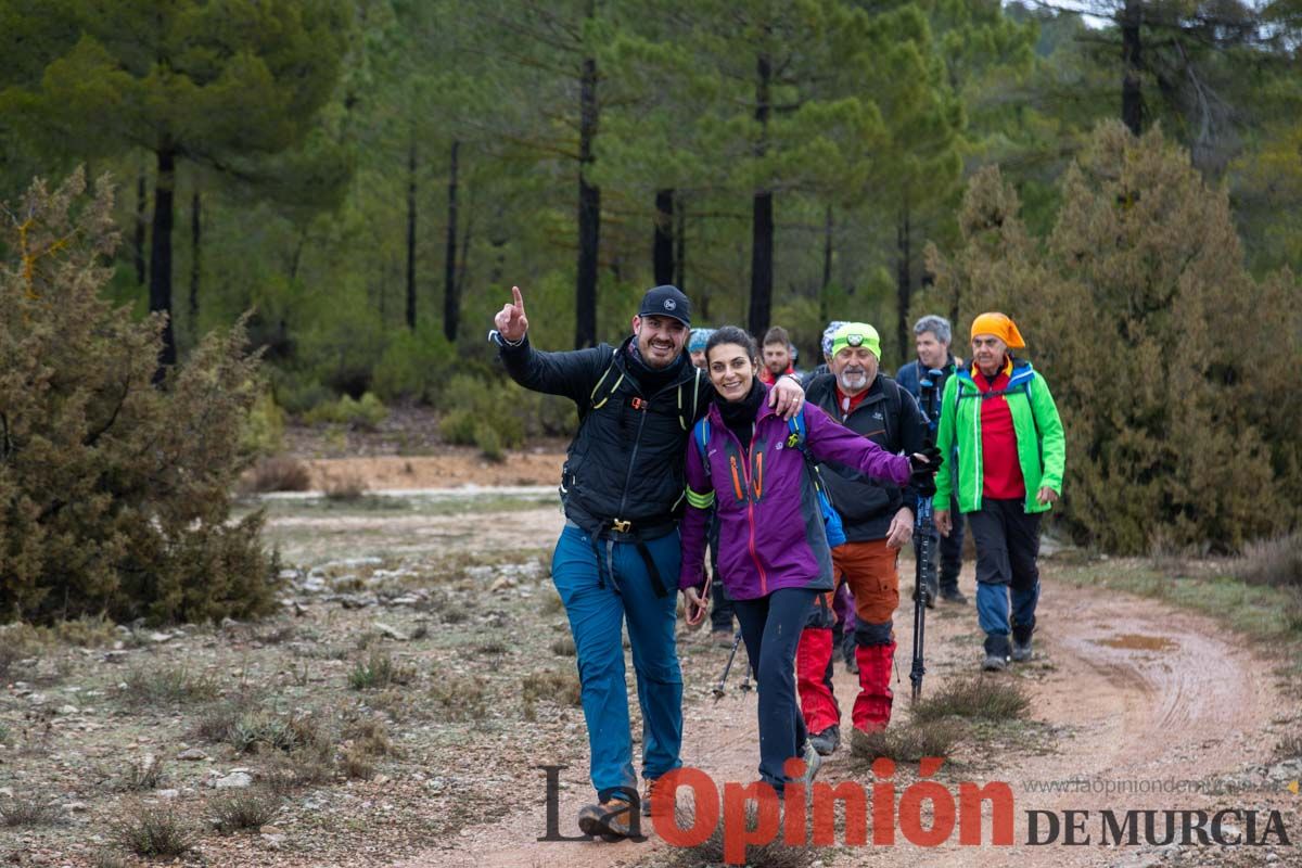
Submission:
[[[7,18],[56,35],[29,46],[39,82],[16,81],[0,95],[0,113],[14,112],[47,137],[72,137],[96,154],[154,155],[150,310],[168,315],[159,360],[174,364],[177,165],[249,174],[249,157],[299,144],[335,86],[348,4],[51,0]],[[78,36],[69,40],[70,33]]]

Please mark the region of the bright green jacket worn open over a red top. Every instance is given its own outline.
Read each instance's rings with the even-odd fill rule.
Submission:
[[[952,455],[948,472],[936,475],[935,509],[949,509],[949,496],[958,485],[958,510],[975,513],[980,509],[984,489],[980,445],[982,393],[973,381],[971,368],[957,371],[945,383],[941,397],[940,427],[936,446],[940,454]],[[1008,388],[1000,394],[987,393],[987,401],[1006,401],[1013,414],[1013,432],[1017,436],[1017,463],[1026,481],[1026,511],[1044,513],[1051,504],[1040,504],[1040,488],[1062,493],[1062,471],[1066,463],[1066,440],[1062,420],[1044,377],[1030,362],[1013,360]]]

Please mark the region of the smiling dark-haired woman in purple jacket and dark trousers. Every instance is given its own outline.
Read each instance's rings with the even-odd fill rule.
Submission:
[[[754,338],[724,327],[710,337],[706,362],[717,394],[698,423],[708,435],[694,432],[687,444],[678,587],[687,599],[689,621],[699,618],[706,605],[706,524],[710,506],[717,505],[719,576],[734,601],[759,687],[759,774],[781,795],[788,759],[805,760],[806,782],[820,761],[809,747],[796,701],[794,664],[810,606],[833,587],[832,553],[798,437],[764,400],[768,388],[756,377]],[[932,450],[893,455],[818,407],[806,406],[803,414],[803,448],[815,461],[858,467],[892,485],[936,472],[939,454]]]

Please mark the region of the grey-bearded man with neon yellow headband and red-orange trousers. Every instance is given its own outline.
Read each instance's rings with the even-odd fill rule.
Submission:
[[[888,452],[913,454],[922,449],[927,420],[913,396],[880,372],[880,351],[871,325],[841,325],[832,338],[831,370],[809,384],[807,400]],[[832,549],[832,562],[854,595],[859,695],[850,716],[855,729],[872,731],[891,720],[897,562],[900,547],[913,539],[914,492],[838,465],[820,465],[820,472],[845,526],[846,543]],[[840,709],[831,691],[831,623],[822,606],[811,623],[797,651],[801,708],[815,750],[831,753],[840,743]]]

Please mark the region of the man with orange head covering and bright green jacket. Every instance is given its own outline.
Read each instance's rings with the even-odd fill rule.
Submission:
[[[941,397],[936,446],[956,454],[953,472],[937,474],[936,528],[948,536],[949,498],[976,544],[976,616],[986,631],[987,671],[1031,658],[1040,515],[1062,492],[1066,442],[1044,377],[1013,357],[1026,346],[1004,314],[973,321],[973,363],[949,377]],[[1012,601],[1009,601],[1012,596]],[[1009,643],[1012,639],[1012,643]]]

